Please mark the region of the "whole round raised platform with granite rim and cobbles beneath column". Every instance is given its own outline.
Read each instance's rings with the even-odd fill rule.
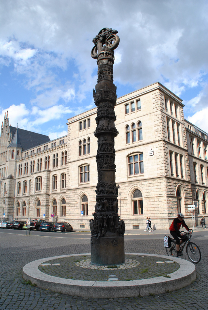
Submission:
[[[196,279],[195,265],[185,259],[125,253],[125,261],[120,266],[95,266],[89,253],[54,256],[26,264],[23,278],[40,288],[95,298],[161,294]],[[120,281],[108,281],[112,274]]]

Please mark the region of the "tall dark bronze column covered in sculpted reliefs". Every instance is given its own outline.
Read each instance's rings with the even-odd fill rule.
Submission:
[[[115,182],[114,138],[116,86],[113,84],[113,50],[118,47],[118,31],[109,28],[100,30],[93,39],[95,46],[92,58],[97,59],[98,83],[93,90],[97,108],[95,137],[98,139],[96,155],[98,183],[94,219],[90,220],[91,263],[118,265],[124,260],[125,224],[118,215],[118,187]]]

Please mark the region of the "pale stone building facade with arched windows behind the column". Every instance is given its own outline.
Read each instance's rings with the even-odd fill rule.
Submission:
[[[159,82],[117,99],[118,213],[126,229],[143,229],[146,216],[155,229],[167,229],[179,211],[191,227],[188,205],[193,201],[198,202],[196,225],[203,215],[207,220],[208,134],[184,119],[183,106]],[[15,148],[14,139],[7,138],[5,116],[0,138],[1,219],[4,210],[6,219],[45,214],[52,221],[54,214],[56,221],[68,221],[74,229],[81,223],[89,229],[96,203],[96,113],[93,108],[68,119],[67,136],[29,148],[18,143]],[[111,162],[107,154],[105,162]]]

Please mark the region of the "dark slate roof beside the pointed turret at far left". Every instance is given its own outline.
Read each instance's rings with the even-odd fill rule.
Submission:
[[[49,136],[10,126],[12,141],[8,148],[22,148],[23,151],[35,148],[50,141]]]

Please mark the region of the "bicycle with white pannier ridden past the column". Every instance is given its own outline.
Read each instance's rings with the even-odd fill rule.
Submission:
[[[201,252],[200,252],[199,247],[195,243],[191,242],[192,234],[190,232],[183,232],[183,233],[184,233],[184,237],[186,238],[186,240],[182,245],[180,245],[180,251],[183,252],[185,245],[188,243],[186,246],[186,252],[187,252],[188,258],[190,259],[192,263],[199,263],[201,260]],[[177,250],[176,250],[175,239],[171,238],[170,247],[165,248],[165,249],[166,249],[168,256],[176,257]]]

